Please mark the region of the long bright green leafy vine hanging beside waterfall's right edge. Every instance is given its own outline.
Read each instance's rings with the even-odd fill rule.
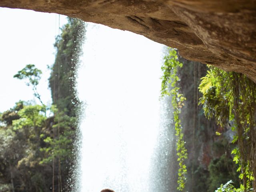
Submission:
[[[186,98],[179,92],[178,81],[180,80],[177,72],[178,68],[182,67],[182,63],[178,61],[176,50],[169,49],[169,55],[164,57],[164,64],[161,67],[162,76],[162,89],[161,94],[172,96],[172,106],[174,108],[174,128],[176,136],[176,151],[178,156],[179,170],[178,170],[178,187],[177,190],[183,191],[186,184],[186,173],[187,168],[184,164],[184,160],[188,158],[187,150],[185,148],[185,142],[183,140],[184,134],[182,133],[181,121],[180,121],[180,110],[184,106],[184,100]],[[171,90],[169,90],[169,85]]]

